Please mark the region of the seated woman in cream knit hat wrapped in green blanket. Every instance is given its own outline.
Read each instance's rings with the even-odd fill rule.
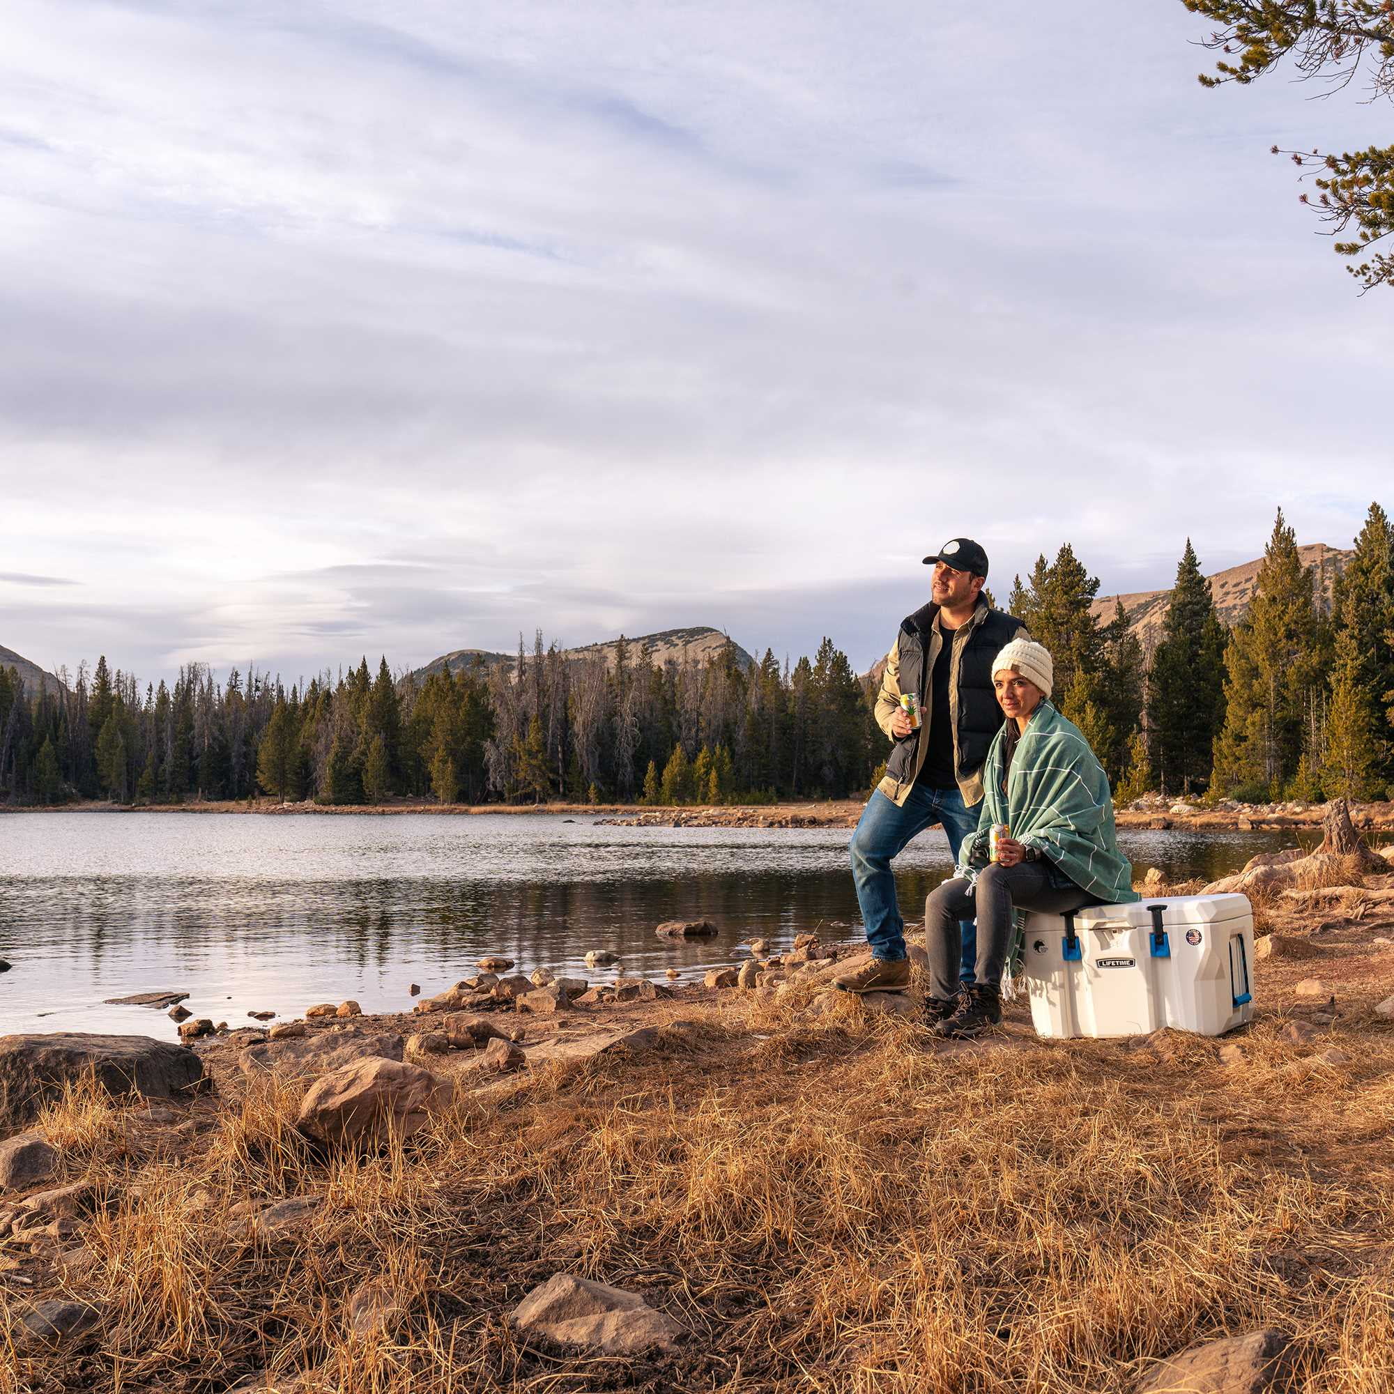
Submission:
[[[983,813],[963,841],[952,881],[924,903],[930,956],[930,1029],[976,1036],[1002,1019],[1002,966],[1016,910],[1061,914],[1086,905],[1136,901],[1132,866],[1118,852],[1114,802],[1089,742],[1051,704],[1054,662],[1027,638],[993,661],[993,687],[1006,721],[983,765]],[[988,861],[988,829],[1011,836]],[[977,917],[976,983],[955,998],[959,920]]]

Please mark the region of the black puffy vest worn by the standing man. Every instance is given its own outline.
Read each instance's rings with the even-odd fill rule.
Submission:
[[[917,691],[921,703],[930,697],[928,648],[938,612],[938,605],[931,602],[901,625],[901,691]],[[973,625],[973,620],[969,623]],[[993,690],[993,659],[1023,629],[1026,623],[1015,615],[990,609],[962,641],[958,659],[958,726],[953,732],[953,774],[959,779],[983,768],[987,747],[1002,725],[1002,708]],[[920,736],[930,726],[928,715],[926,711],[924,725],[905,740],[898,740],[891,751],[885,772],[898,783],[909,783],[914,778]]]

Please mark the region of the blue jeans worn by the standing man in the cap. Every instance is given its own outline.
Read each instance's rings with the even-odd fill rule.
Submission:
[[[878,959],[905,958],[905,921],[895,899],[895,875],[891,873],[891,859],[898,856],[912,838],[935,822],[944,824],[949,839],[949,852],[958,861],[958,850],[963,839],[977,831],[977,815],[981,804],[972,809],[963,806],[963,795],[958,789],[930,789],[916,785],[902,806],[887,799],[877,789],[852,834],[852,875],[857,884],[857,903],[861,906],[861,923],[866,924],[867,944]],[[973,966],[977,960],[977,930],[973,920],[962,920],[962,959],[959,977],[973,981]]]

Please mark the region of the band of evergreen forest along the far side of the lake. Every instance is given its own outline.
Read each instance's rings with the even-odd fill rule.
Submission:
[[[927,588],[927,587],[926,587]],[[1188,541],[1151,651],[1065,544],[1016,579],[1006,609],[1055,659],[1055,701],[1126,802],[1394,796],[1394,530],[1370,505],[1327,598],[1280,512],[1245,618],[1228,629]],[[887,640],[896,618],[888,618]],[[613,665],[538,631],[514,662],[395,676],[364,658],[289,689],[208,666],[173,687],[78,668],[29,691],[0,668],[0,800],[751,803],[849,797],[880,775],[875,675],[824,638],[792,666],[735,645],[662,664],[620,643]]]

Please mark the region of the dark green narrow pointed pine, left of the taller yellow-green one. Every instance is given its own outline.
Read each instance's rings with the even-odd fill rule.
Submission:
[[[1147,684],[1151,760],[1163,793],[1189,795],[1210,778],[1224,721],[1224,650],[1210,583],[1186,538]]]

